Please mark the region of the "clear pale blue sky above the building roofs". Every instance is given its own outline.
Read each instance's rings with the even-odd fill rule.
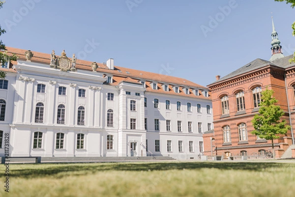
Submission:
[[[114,58],[115,66],[206,86],[217,74],[222,77],[256,58],[269,60],[273,12],[284,55],[294,52],[295,9],[290,5],[230,1],[6,0],[0,25],[7,33],[0,39],[6,46],[43,53],[54,49],[60,55],[65,49],[68,57],[76,53],[93,62]],[[229,5],[231,10],[222,14],[220,7]],[[210,17],[217,17],[217,24],[209,24]],[[92,47],[88,42],[94,42]]]

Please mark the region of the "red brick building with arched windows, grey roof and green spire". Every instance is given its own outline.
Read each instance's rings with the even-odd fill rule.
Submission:
[[[272,27],[271,58],[256,59],[220,78],[208,87],[212,94],[214,131],[204,133],[205,155],[261,156],[271,148],[271,141],[251,134],[251,120],[258,113],[261,92],[274,90],[282,117],[291,125],[287,135],[274,140],[276,158],[292,157],[295,130],[295,64],[285,57],[277,33]],[[290,122],[291,121],[291,122]],[[290,156],[291,154],[291,156]]]

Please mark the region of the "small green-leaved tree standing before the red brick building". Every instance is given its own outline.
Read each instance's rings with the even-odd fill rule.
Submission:
[[[278,100],[272,97],[273,93],[273,90],[267,88],[261,93],[261,107],[259,114],[256,114],[251,121],[255,129],[251,133],[260,138],[271,140],[272,152],[274,153],[273,140],[280,138],[279,134],[286,134],[291,127],[286,126],[286,120],[281,120],[285,112],[280,106],[275,105]]]

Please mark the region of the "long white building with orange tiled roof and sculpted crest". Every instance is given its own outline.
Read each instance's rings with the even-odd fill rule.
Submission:
[[[6,71],[0,79],[0,156],[8,135],[15,157],[189,159],[203,152],[203,132],[213,127],[206,87],[114,66],[113,59],[91,64],[65,53],[51,60],[50,54],[33,52],[31,58],[30,51],[7,49],[19,59],[0,68]]]

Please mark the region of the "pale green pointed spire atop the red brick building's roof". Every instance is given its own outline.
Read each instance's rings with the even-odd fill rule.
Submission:
[[[272,22],[272,33],[271,33],[271,58],[270,62],[285,57],[282,53],[281,41],[278,38],[278,33],[274,29],[273,18],[271,17]]]

